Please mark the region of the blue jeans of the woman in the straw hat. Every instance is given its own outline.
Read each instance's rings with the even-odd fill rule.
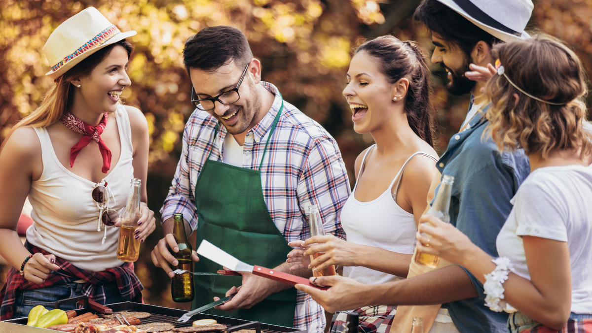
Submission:
[[[46,309],[54,309],[56,300],[82,295],[84,283],[69,282],[31,290],[20,290],[14,303],[14,316],[21,318],[28,316],[34,306],[43,305]],[[127,302],[129,299],[121,297],[117,283],[104,284],[105,304]],[[76,309],[76,302],[60,305],[64,311]]]

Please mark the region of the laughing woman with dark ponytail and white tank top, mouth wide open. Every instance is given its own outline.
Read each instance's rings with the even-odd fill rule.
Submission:
[[[356,159],[356,185],[341,211],[347,241],[309,238],[288,254],[292,269],[343,266],[343,276],[378,284],[407,277],[417,222],[437,174],[430,72],[416,43],[392,35],[369,40],[354,53],[343,89],[353,130],[375,144]],[[304,251],[305,249],[305,251]],[[321,253],[313,262],[308,256]],[[306,266],[304,266],[306,267]],[[365,306],[360,332],[389,332],[397,306]],[[346,312],[333,317],[332,332],[347,329]]]

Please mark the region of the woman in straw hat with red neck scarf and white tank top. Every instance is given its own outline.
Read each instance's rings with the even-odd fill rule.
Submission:
[[[43,47],[55,85],[0,151],[0,255],[13,266],[0,291],[1,320],[82,294],[103,304],[141,299],[133,264],[116,256],[118,229],[107,227],[126,203],[130,180],[146,183],[146,119],[120,102],[131,84],[125,38],[135,34],[89,7]],[[34,223],[23,246],[15,230],[27,196]],[[155,229],[146,201],[143,186],[140,242]]]

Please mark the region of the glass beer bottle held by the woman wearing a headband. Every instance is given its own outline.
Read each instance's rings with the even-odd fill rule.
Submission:
[[[433,205],[430,209],[426,212],[426,215],[433,215],[437,218],[441,219],[442,221],[449,223],[450,222],[450,215],[448,214],[448,210],[450,208],[450,198],[452,195],[452,183],[454,182],[454,177],[448,176],[445,174],[442,177],[442,182],[440,183],[440,188],[438,193],[436,194],[436,199],[434,200]],[[429,237],[426,234],[422,234],[423,237]],[[429,246],[429,245],[428,245]],[[419,250],[415,251],[415,261],[423,266],[436,268],[440,263],[440,257],[434,256],[433,254],[426,254],[421,253]]]

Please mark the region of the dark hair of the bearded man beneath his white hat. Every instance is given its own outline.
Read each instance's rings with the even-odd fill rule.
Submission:
[[[467,55],[471,54],[480,40],[490,47],[501,43],[501,40],[437,0],[424,0],[417,7],[413,18],[423,22],[430,31],[458,46]]]

